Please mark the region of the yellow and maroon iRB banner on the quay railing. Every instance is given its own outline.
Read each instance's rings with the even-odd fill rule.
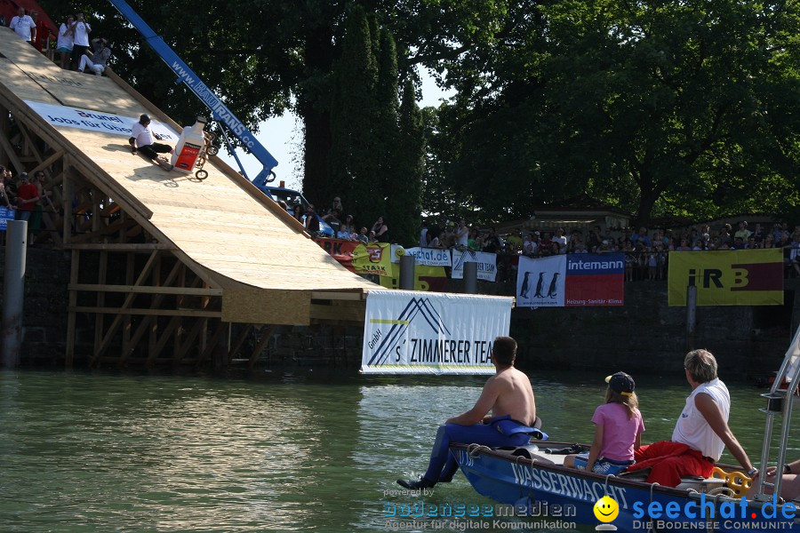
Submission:
[[[781,306],[783,251],[670,251],[669,305],[685,306],[690,285],[698,306]]]

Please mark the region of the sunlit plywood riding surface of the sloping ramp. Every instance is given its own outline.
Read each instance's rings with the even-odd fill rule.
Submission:
[[[113,80],[62,70],[8,28],[0,28],[0,52],[0,91],[6,95],[126,117],[146,111]],[[166,68],[164,76],[171,76]],[[117,202],[125,207],[126,198],[129,205],[135,205],[135,199],[152,211],[145,224],[159,241],[171,243],[232,285],[264,290],[380,288],[341,267],[299,224],[285,220],[276,203],[264,203],[260,193],[212,162],[204,167],[208,178],[193,181],[191,175],[163,171],[132,155],[124,135],[44,121],[38,125],[59,139],[77,163],[100,169],[100,179],[112,181],[113,190],[123,192],[125,197],[115,198]]]

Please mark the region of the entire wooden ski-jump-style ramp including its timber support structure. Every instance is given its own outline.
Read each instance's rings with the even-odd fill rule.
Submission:
[[[341,267],[227,164],[212,158],[199,181],[132,155],[125,130],[140,114],[181,128],[113,72],[62,70],[8,28],[0,54],[0,163],[15,176],[45,172],[52,206],[37,238],[73,251],[70,328],[96,316],[93,362],[143,353],[148,362],[201,361],[232,323],[267,334],[275,324],[363,321],[366,292],[379,286]],[[60,119],[76,110],[94,126]],[[99,129],[95,117],[119,131]],[[234,357],[236,342],[227,344]]]

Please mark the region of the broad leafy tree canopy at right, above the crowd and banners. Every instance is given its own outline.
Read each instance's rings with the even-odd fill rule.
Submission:
[[[518,38],[474,51],[483,67],[450,73],[459,111],[440,127],[460,151],[447,185],[485,218],[583,192],[642,221],[797,203],[796,3],[570,0],[533,12],[505,32]],[[502,185],[487,195],[487,182]]]

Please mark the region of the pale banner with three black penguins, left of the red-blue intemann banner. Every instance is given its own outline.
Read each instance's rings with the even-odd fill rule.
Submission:
[[[519,258],[516,275],[516,306],[563,307],[566,256]]]

